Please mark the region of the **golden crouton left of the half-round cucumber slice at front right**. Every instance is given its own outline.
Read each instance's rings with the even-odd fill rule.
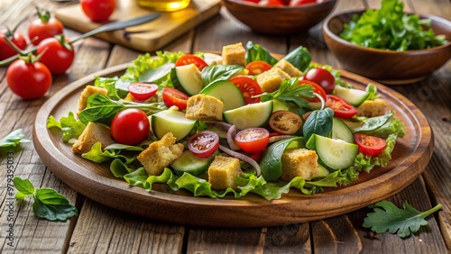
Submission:
[[[290,182],[294,177],[309,180],[318,175],[318,155],[314,150],[287,149],[281,157],[281,179]]]

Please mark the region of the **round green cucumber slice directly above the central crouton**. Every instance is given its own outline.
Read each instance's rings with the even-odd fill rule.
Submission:
[[[217,80],[206,86],[199,94],[214,96],[224,103],[224,110],[231,110],[244,105],[240,88],[227,80]]]

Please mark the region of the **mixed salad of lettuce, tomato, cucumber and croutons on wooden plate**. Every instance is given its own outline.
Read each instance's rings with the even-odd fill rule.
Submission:
[[[240,198],[253,193],[272,200],[291,188],[315,195],[353,182],[362,171],[387,166],[397,139],[405,133],[393,112],[359,113],[364,104],[383,104],[376,86],[354,88],[336,69],[311,62],[302,46],[283,59],[273,58],[252,41],[243,49],[242,65],[225,64],[224,56],[222,62],[220,56],[211,60],[212,55],[203,52],[139,56],[120,77],[96,77],[90,86],[103,92],[89,95],[78,113],[68,112],[58,120],[50,116],[47,127],[60,129],[62,141],[77,144],[80,137],[87,139],[89,124],[100,126],[110,142],[98,139],[80,156],[107,165],[115,177],[147,191],[163,184],[194,196]],[[287,75],[282,71],[289,72],[287,66],[300,75]],[[269,90],[270,81],[262,77],[271,71],[284,78]],[[194,98],[224,108],[219,113],[212,107],[196,108],[191,117],[199,106]],[[138,114],[117,120],[131,110],[144,113],[145,120],[133,119]],[[216,116],[197,115],[204,111]],[[143,136],[141,131],[121,131],[133,122],[148,124]],[[163,147],[168,133],[176,143]],[[157,157],[151,165],[142,159],[144,153],[165,157],[160,171],[151,173],[149,167],[162,159]],[[176,153],[168,161],[167,155]],[[302,156],[292,160],[298,153]],[[288,167],[296,169],[304,154],[314,158],[314,166],[303,169],[307,175],[288,176]],[[216,159],[230,158],[239,160],[240,174],[230,186],[215,186],[209,168]]]

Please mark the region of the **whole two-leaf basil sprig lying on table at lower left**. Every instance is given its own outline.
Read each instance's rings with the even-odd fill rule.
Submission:
[[[15,195],[16,199],[23,199],[32,195],[34,200],[32,212],[36,216],[49,221],[65,222],[68,218],[78,215],[77,207],[69,204],[69,200],[54,189],[34,189],[30,180],[22,179],[21,177],[14,177],[13,182],[14,187],[18,191]]]

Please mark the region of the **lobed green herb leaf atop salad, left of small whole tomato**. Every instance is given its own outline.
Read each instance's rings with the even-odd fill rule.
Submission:
[[[312,86],[299,86],[298,77],[291,77],[281,82],[281,87],[272,93],[264,92],[261,95],[262,102],[277,99],[282,104],[289,106],[289,103],[296,104],[299,108],[308,107],[308,101],[305,98],[313,98]]]

